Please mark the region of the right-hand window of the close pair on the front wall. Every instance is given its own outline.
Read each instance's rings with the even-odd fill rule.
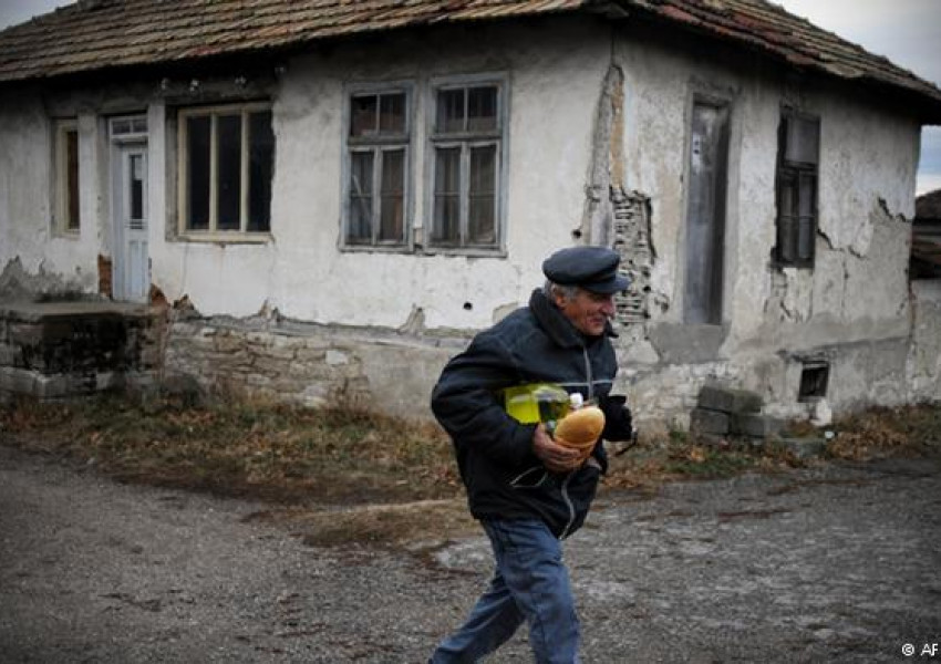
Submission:
[[[504,85],[441,84],[433,101],[430,245],[497,249]]]

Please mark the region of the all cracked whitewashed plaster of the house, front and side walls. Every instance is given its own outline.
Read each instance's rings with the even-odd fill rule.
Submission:
[[[485,40],[488,49],[482,50]],[[505,255],[340,251],[345,84],[415,85],[412,217],[421,241],[426,84],[435,76],[479,72],[505,73],[509,82]],[[926,360],[933,347],[930,330],[921,332],[920,354],[906,360],[897,352],[910,325],[902,266],[918,126],[777,76],[758,65],[749,69],[741,56],[723,59],[675,42],[668,48],[630,30],[612,42],[612,32],[593,20],[454,28],[423,33],[421,40],[389,34],[298,56],[271,89],[275,237],[263,245],[174,239],[173,114],[158,92],[145,90],[136,103],[146,104],[151,124],[153,281],[170,301],[185,297],[209,318],[249,321],[261,313],[380,334],[400,330],[412,338],[459,339],[525,303],[542,280],[541,260],[579,241],[576,231],[581,241],[617,240],[606,224],[613,224],[618,205],[607,193],[633,197],[641,201],[637,209],[649,215],[644,226],[651,251],[639,307],[650,318],[623,328],[618,347],[619,388],[642,416],[682,414],[692,407],[699,386],[714,378],[758,390],[780,413],[797,413],[796,357],[802,353],[829,353],[837,406],[899,394],[889,387],[904,378],[899,362],[918,366],[927,384],[933,371]],[[682,322],[684,177],[695,98],[724,101],[732,111],[724,324],[709,330]],[[813,271],[778,270],[769,261],[777,125],[787,101],[821,117],[820,234]],[[83,180],[83,195],[91,194],[89,203],[83,199],[80,240],[51,237],[43,156],[51,148],[42,105],[28,103],[24,112],[14,112],[0,103],[0,114],[8,121],[0,124],[7,155],[0,257],[6,263],[13,253],[21,256],[34,273],[41,264],[51,266],[66,281],[77,279],[81,288],[93,290],[86,276],[94,273],[96,255],[107,252],[106,201],[95,194],[94,180]],[[94,118],[94,104],[83,106],[80,126],[89,147],[82,156],[101,177],[102,127]],[[6,146],[35,158],[27,170],[11,169]],[[10,222],[13,216],[17,224]],[[87,225],[86,216],[93,219]],[[926,314],[924,320],[932,319]],[[391,361],[391,347],[407,360]],[[399,339],[361,344],[353,354],[343,366],[360,367],[356,375],[374,392],[394,391],[395,376],[416,376],[404,396],[395,397],[399,408],[430,388],[448,353],[425,353]],[[187,363],[182,357],[180,367]],[[881,377],[875,383],[860,371],[866,365],[878,366],[872,371]],[[867,392],[867,382],[880,386]]]

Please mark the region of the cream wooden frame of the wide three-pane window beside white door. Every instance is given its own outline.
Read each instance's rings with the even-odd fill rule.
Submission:
[[[244,242],[265,242],[271,239],[271,216],[270,205],[273,196],[269,197],[269,217],[268,228],[262,230],[249,230],[249,116],[257,112],[271,112],[272,105],[270,102],[248,102],[235,104],[220,104],[213,106],[193,106],[184,107],[177,111],[177,216],[178,216],[178,234],[180,237],[190,240],[203,241],[244,241]],[[240,137],[240,200],[239,200],[239,228],[237,230],[219,229],[218,228],[218,117],[223,115],[238,114],[241,117],[241,137]],[[197,229],[189,227],[188,209],[189,209],[189,154],[188,154],[188,127],[187,121],[192,117],[209,117],[209,219],[207,229]],[[273,122],[273,117],[272,117]],[[273,135],[273,127],[272,127]],[[277,142],[277,137],[276,137]],[[271,157],[271,177],[275,177],[275,163],[277,154],[277,144],[275,145],[275,154]]]

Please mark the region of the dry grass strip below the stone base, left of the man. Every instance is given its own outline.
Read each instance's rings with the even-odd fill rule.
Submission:
[[[421,500],[458,492],[440,428],[354,408],[259,402],[183,407],[103,397],[19,402],[0,425],[21,447],[120,479],[281,502]]]

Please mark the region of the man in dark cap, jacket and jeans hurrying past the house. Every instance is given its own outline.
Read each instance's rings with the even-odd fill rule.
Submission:
[[[476,662],[527,622],[538,663],[578,662],[579,624],[560,540],[585,521],[608,459],[599,439],[583,464],[542,424],[520,424],[501,391],[555,383],[594,400],[602,438],[631,437],[624,397],[611,396],[618,366],[609,340],[614,293],[629,281],[603,247],[562,249],[542,263],[546,286],[529,305],[477,334],[445,366],[432,409],[451,435],[472,515],[490,539],[496,571],[465,624],[431,662]]]

